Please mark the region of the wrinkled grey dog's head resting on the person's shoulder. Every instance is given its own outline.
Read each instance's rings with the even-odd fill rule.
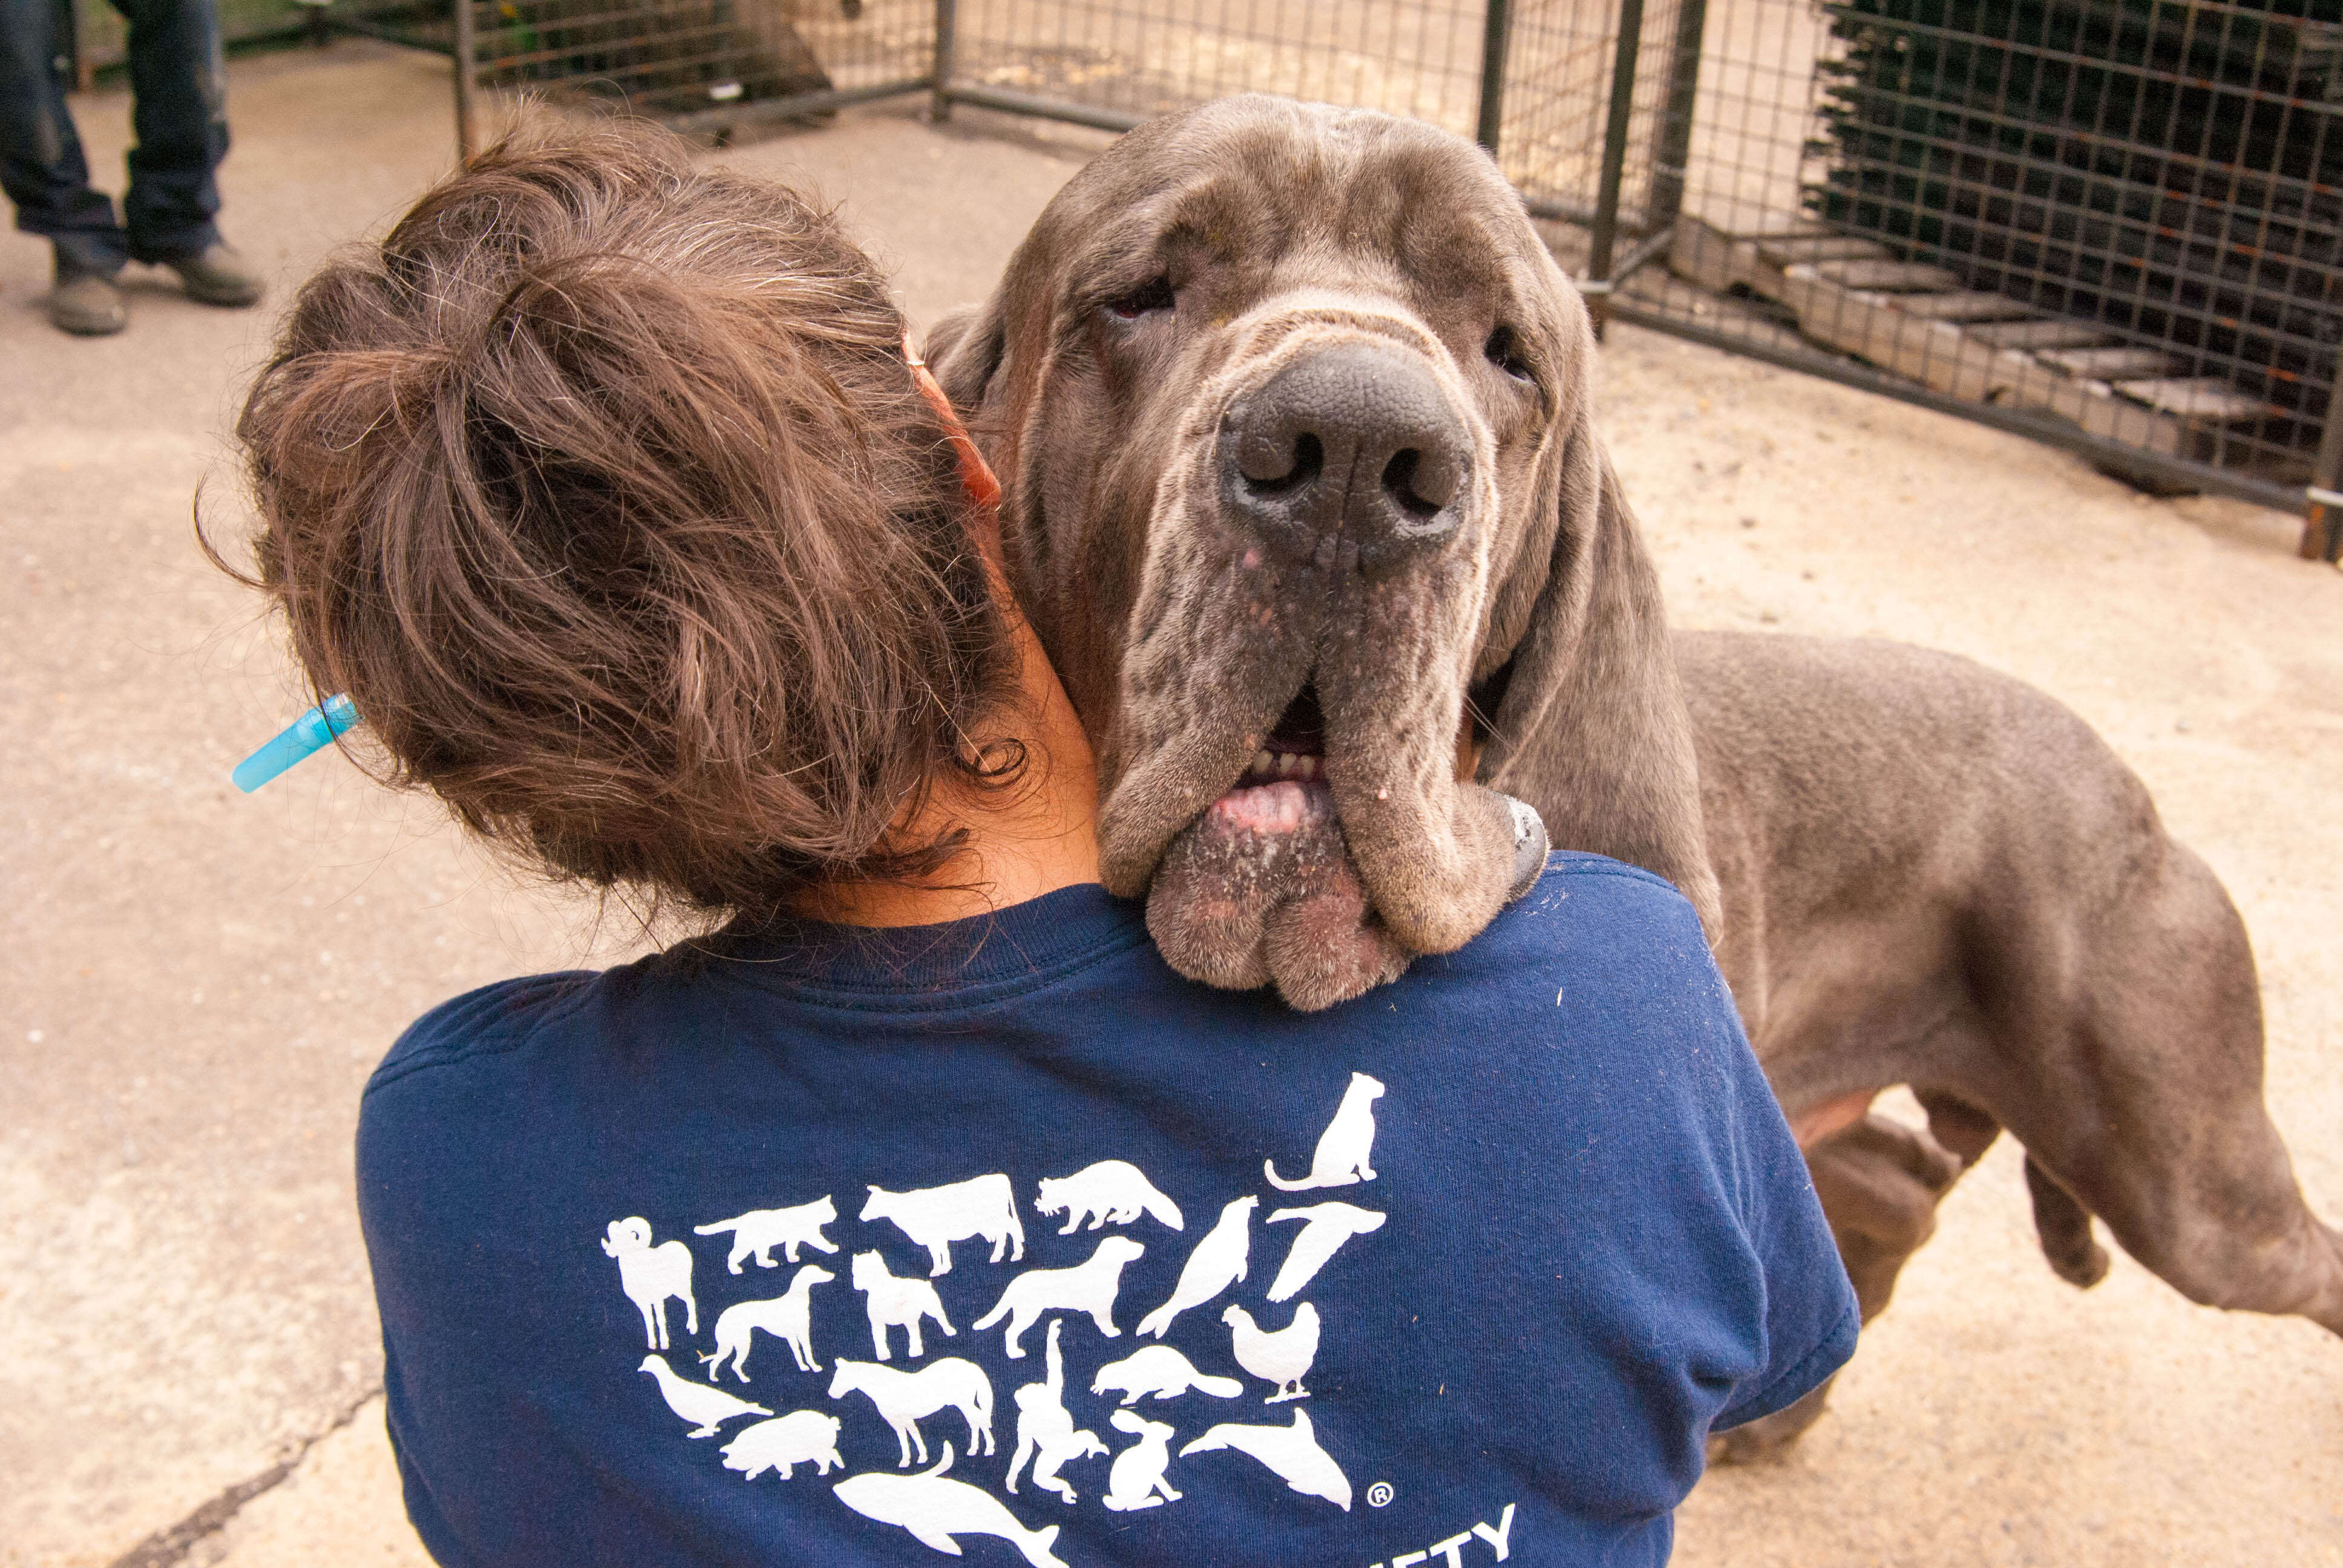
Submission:
[[[1703,914],[1659,588],[1593,338],[1471,143],[1230,98],[1078,173],[928,359],[1164,956],[1326,1005],[1478,933],[1514,813]]]

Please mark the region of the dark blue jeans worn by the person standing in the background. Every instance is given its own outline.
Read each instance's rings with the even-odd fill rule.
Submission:
[[[122,218],[89,188],[66,110],[56,0],[0,0],[0,188],[16,227],[47,234],[61,263],[119,272],[220,239],[213,171],[227,157],[227,70],[213,0],[112,0],[129,26],[131,192]]]

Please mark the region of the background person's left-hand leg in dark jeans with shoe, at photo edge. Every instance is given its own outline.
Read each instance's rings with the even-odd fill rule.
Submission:
[[[89,159],[66,110],[56,0],[0,0],[0,188],[16,227],[56,246],[49,316],[75,333],[122,326],[110,279],[129,260],[115,202],[89,188]]]

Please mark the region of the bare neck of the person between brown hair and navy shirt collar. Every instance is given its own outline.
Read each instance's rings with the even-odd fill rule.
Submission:
[[[925,881],[811,888],[799,900],[804,914],[839,926],[937,926],[1099,881],[1099,773],[1089,736],[998,579],[996,593],[1017,642],[1015,738],[1026,748],[1024,773],[1000,788],[940,780],[902,834],[918,844],[963,830],[965,846],[951,863]]]

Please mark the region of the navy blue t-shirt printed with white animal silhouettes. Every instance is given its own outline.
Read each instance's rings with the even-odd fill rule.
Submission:
[[[1319,1015],[1094,886],[417,1022],[358,1202],[440,1563],[1661,1563],[1856,1305],[1689,905]]]

